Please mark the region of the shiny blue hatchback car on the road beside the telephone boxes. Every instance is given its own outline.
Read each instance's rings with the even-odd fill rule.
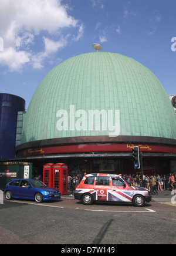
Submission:
[[[46,200],[60,199],[60,191],[57,188],[47,187],[39,180],[25,180],[22,178],[12,180],[6,184],[4,193],[7,200],[22,198],[41,203]]]

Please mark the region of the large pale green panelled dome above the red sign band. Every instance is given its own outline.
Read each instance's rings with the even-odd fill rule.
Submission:
[[[118,53],[84,53],[42,80],[26,112],[21,143],[109,136],[109,123],[115,127],[117,122],[114,136],[176,139],[170,99],[150,70]]]

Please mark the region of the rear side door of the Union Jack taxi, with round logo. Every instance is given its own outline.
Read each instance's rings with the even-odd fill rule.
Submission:
[[[97,191],[97,201],[107,201],[107,190],[110,189],[110,177],[97,176],[94,190]]]

